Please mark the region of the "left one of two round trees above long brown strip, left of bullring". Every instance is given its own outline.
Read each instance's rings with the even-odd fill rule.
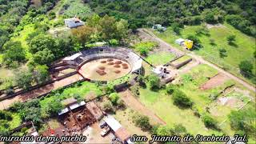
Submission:
[[[33,74],[29,70],[18,70],[15,72],[14,82],[17,86],[27,89],[32,86]]]

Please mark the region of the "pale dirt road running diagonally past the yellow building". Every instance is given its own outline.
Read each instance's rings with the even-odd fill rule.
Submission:
[[[202,64],[206,64],[208,66],[213,67],[214,69],[218,70],[218,72],[225,74],[227,77],[232,78],[234,81],[239,82],[242,84],[242,86],[245,86],[246,88],[248,88],[249,90],[253,90],[254,92],[256,92],[256,88],[255,86],[251,86],[249,83],[243,81],[241,78],[238,78],[236,76],[234,76],[233,74],[230,74],[229,72],[227,72],[226,70],[223,70],[222,68],[214,65],[211,62],[208,62],[206,60],[204,60],[202,57],[196,55],[196,54],[192,54],[192,52],[190,51],[186,51],[186,52],[182,52],[182,50],[178,50],[177,48],[170,46],[169,43],[164,42],[161,38],[158,38],[157,36],[155,36],[152,32],[150,32],[149,30],[146,29],[138,29],[139,32],[141,32],[142,34],[147,35],[148,37],[153,37],[155,40],[157,40],[159,43],[161,43],[161,45],[166,46],[166,48],[168,49],[172,49],[175,50],[177,53],[183,53],[183,54],[187,54],[189,55],[191,58],[194,58],[195,60],[197,60],[198,62],[202,63]]]

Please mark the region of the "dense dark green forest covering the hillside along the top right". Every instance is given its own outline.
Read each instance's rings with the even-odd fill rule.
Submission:
[[[170,26],[226,22],[245,34],[256,36],[254,0],[95,0],[90,7],[100,15],[129,20],[130,28],[160,23]]]

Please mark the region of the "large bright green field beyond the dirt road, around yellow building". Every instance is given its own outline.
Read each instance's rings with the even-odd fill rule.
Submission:
[[[182,46],[175,44],[175,39],[177,38],[186,38],[188,35],[197,35],[196,31],[202,28],[202,26],[186,26],[181,30],[180,35],[175,35],[173,30],[169,27],[168,30],[164,33],[158,33],[154,31],[159,38],[162,38],[164,41],[170,43],[172,46],[182,49]],[[234,34],[236,40],[234,45],[229,45],[226,37]],[[223,26],[212,27],[209,29],[209,35],[207,34],[198,34],[200,42],[202,43],[202,48],[199,50],[194,50],[195,54],[201,55],[203,58],[210,62],[214,62],[218,66],[229,70],[230,72],[238,75],[243,78],[242,75],[238,72],[238,65],[243,60],[248,60],[254,65],[254,74],[256,74],[256,62],[253,58],[255,51],[255,38],[249,37],[246,34],[242,34],[240,31],[234,29],[233,26],[224,24]],[[210,42],[214,41],[214,45]],[[226,50],[227,57],[220,58],[219,50]],[[246,79],[248,81],[248,79]]]

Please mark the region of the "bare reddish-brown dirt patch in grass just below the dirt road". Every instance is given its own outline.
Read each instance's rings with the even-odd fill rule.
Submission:
[[[228,79],[230,79],[230,78],[226,77],[226,75],[224,75],[222,73],[218,73],[213,78],[210,78],[210,80],[207,81],[205,84],[200,86],[200,89],[201,90],[210,90],[216,86],[222,85]]]

